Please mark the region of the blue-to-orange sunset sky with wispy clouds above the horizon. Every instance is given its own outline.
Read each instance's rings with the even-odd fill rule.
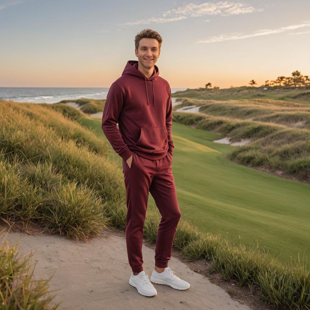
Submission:
[[[171,88],[310,75],[309,13],[309,0],[0,0],[0,87],[110,87],[146,28]]]

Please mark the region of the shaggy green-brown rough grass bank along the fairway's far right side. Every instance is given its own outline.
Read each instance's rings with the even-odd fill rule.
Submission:
[[[173,121],[230,138],[252,139],[227,158],[252,167],[280,170],[310,183],[310,131],[285,125],[204,113],[174,112]]]

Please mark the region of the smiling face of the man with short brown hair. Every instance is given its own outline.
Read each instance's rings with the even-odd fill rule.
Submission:
[[[135,54],[142,66],[148,69],[152,68],[160,54],[159,42],[153,38],[142,38],[139,42],[138,50],[135,49]]]

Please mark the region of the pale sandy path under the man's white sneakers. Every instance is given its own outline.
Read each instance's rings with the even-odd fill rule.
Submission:
[[[1,241],[7,229],[2,232]],[[47,279],[53,272],[50,289],[61,290],[54,302],[61,300],[59,309],[102,310],[250,310],[246,305],[234,301],[219,286],[208,278],[190,270],[184,263],[171,256],[169,267],[176,275],[188,281],[188,290],[175,290],[169,286],[154,284],[157,295],[145,297],[138,293],[128,281],[131,268],[128,264],[126,239],[107,229],[102,237],[89,243],[74,242],[59,235],[31,236],[19,232],[9,232],[10,246],[16,242],[20,246],[19,255],[31,250],[32,263],[38,261],[34,277]],[[143,244],[144,271],[151,276],[155,252]],[[68,307],[68,308],[67,308]]]

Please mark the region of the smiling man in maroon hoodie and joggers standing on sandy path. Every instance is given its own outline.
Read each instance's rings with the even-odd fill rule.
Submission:
[[[102,116],[102,130],[122,157],[127,205],[126,245],[132,269],[129,283],[144,296],[157,294],[142,267],[148,192],[162,215],[151,281],[179,290],[190,286],[168,267],[181,212],[171,170],[174,149],[171,89],[155,65],[161,44],[162,37],[154,30],[144,29],[136,35],[138,61],[129,60],[122,76],[111,85]]]

